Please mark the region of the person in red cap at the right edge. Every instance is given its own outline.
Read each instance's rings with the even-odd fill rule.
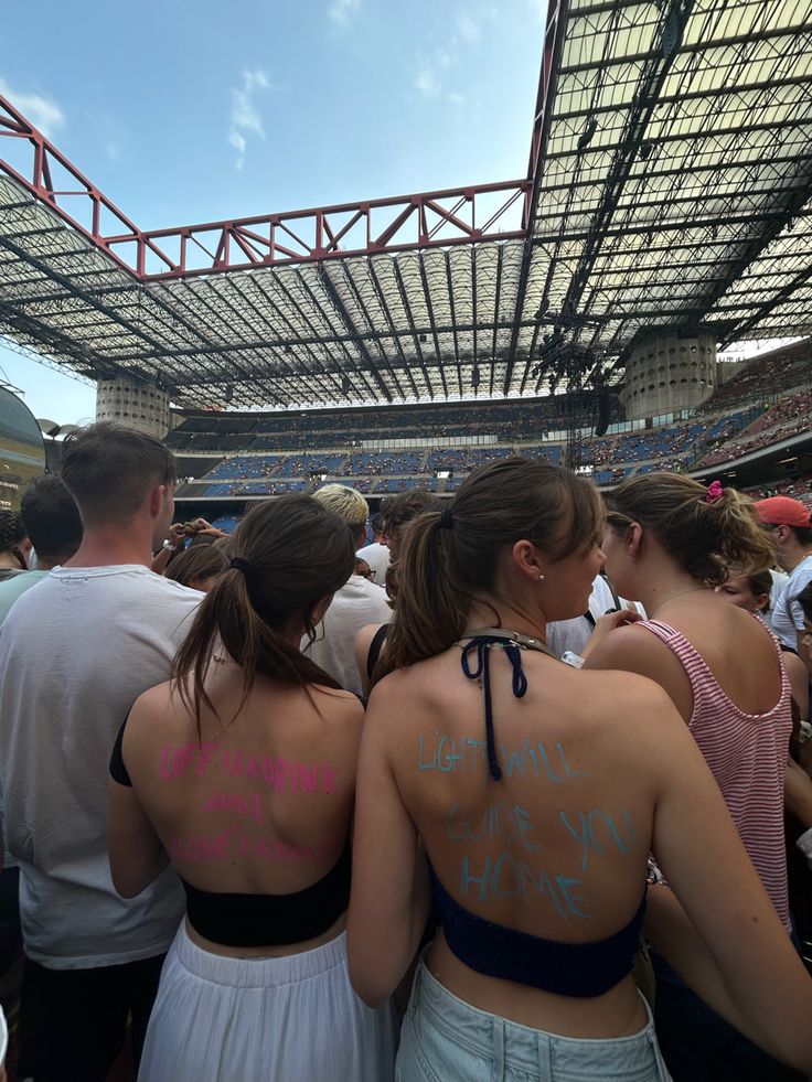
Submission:
[[[786,646],[791,646],[803,656],[803,611],[793,598],[808,582],[812,582],[812,523],[809,507],[791,496],[770,496],[759,500],[756,511],[776,542],[778,563],[789,575],[772,610],[772,629]],[[808,667],[812,672],[812,664],[809,662]]]

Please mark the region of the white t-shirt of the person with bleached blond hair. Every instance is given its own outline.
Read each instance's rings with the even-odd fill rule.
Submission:
[[[348,692],[361,692],[361,676],[355,664],[355,635],[367,623],[388,623],[392,609],[380,586],[361,575],[353,575],[335,593],[324,619],[316,628],[316,640],[302,651],[330,673]]]

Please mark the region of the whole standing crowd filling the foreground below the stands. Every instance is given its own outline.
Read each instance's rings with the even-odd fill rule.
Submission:
[[[0,513],[20,1079],[812,1073],[810,479],[442,480],[183,522],[100,424]]]

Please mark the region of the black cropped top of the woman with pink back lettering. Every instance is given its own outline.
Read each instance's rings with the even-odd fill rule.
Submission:
[[[132,785],[121,746],[127,721],[110,757],[110,776]],[[223,946],[286,946],[316,939],[332,928],[350,904],[352,859],[348,838],[338,861],[318,882],[292,894],[242,894],[201,890],[179,877],[186,917],[199,935]]]

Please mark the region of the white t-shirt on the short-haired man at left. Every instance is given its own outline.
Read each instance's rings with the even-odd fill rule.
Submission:
[[[178,929],[172,870],[133,899],[113,886],[107,779],[121,722],[167,679],[201,598],[140,565],[56,568],[0,628],[8,840],[25,953],[50,968],[153,957]]]

